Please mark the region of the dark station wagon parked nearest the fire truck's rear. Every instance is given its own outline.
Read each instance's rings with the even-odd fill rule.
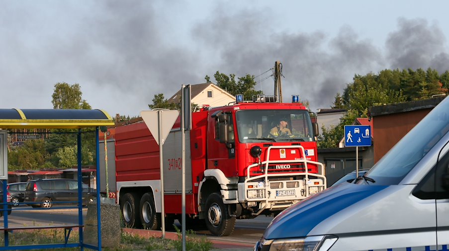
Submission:
[[[83,185],[83,205],[96,196],[94,189]],[[53,202],[67,203],[53,203]],[[25,203],[32,207],[51,208],[53,204],[65,206],[78,203],[78,180],[65,178],[32,179],[26,183]],[[40,203],[30,203],[40,202]]]

